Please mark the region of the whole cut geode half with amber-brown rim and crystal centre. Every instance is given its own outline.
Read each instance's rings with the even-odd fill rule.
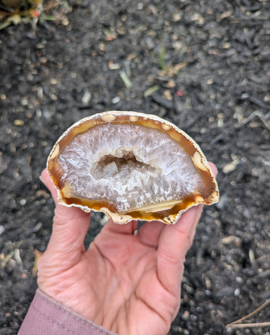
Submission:
[[[218,201],[199,145],[157,116],[108,111],[75,123],[48,158],[58,202],[101,211],[114,222],[174,224],[191,206]]]

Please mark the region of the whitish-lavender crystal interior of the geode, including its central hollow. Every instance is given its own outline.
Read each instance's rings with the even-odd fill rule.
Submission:
[[[190,156],[167,133],[136,124],[98,125],[76,135],[57,163],[70,198],[113,203],[127,212],[203,192]]]

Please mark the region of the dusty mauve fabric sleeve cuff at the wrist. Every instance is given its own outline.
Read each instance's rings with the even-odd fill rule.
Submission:
[[[18,335],[117,335],[36,290]]]

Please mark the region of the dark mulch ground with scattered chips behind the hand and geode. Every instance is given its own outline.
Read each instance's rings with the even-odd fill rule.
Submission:
[[[225,327],[270,299],[270,2],[70,6],[65,25],[0,30],[0,335],[17,333],[50,238],[47,156],[71,124],[105,110],[175,123],[219,170],[221,198],[187,254],[170,334],[270,334]],[[245,322],[266,321],[270,306]]]

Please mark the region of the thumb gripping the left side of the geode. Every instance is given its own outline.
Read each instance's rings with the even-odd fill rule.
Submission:
[[[75,207],[65,207],[57,202],[57,191],[47,169],[43,170],[40,179],[55,202],[52,236],[47,250],[76,256],[76,252],[85,251],[84,239],[89,227],[90,213]]]

